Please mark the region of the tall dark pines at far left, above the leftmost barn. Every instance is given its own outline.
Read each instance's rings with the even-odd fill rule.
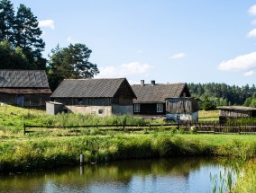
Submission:
[[[42,31],[30,8],[20,4],[17,13],[8,0],[0,1],[0,42],[8,42],[0,48],[2,69],[45,69],[42,57],[45,43]]]

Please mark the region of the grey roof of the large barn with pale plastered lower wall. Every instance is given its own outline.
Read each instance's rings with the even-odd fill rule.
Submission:
[[[51,94],[52,98],[113,98],[122,83],[127,83],[133,98],[133,89],[126,78],[65,79]]]

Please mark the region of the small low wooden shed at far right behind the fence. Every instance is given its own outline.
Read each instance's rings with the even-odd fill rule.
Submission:
[[[256,108],[242,106],[222,106],[220,110],[220,120],[225,118],[256,118]]]

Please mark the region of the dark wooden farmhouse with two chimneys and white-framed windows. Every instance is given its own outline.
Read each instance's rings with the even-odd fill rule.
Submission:
[[[191,98],[187,83],[155,83],[132,85],[134,115],[165,117],[175,121],[197,120],[198,101]]]

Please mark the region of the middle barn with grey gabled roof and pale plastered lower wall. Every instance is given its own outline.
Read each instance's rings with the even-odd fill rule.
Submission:
[[[69,112],[97,114],[133,114],[132,87],[125,78],[66,79],[50,96]]]

